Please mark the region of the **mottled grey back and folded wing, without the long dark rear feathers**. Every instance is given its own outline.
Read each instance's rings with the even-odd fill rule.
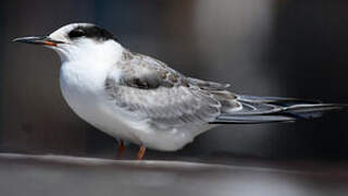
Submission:
[[[164,63],[133,56],[122,64],[127,68],[123,69],[122,78],[115,81],[111,71],[105,90],[114,105],[134,119],[170,130],[208,124],[220,115],[221,103],[213,95],[190,84]]]

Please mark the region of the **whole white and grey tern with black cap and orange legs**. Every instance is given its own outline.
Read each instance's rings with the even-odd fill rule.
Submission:
[[[45,46],[61,60],[60,88],[84,121],[119,140],[175,151],[221,124],[295,122],[320,118],[347,105],[248,96],[229,84],[182,74],[164,62],[125,48],[109,30],[90,23],[64,25],[47,36],[13,41]]]

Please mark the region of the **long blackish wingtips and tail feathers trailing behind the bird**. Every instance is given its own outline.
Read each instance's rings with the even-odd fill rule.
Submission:
[[[259,124],[294,122],[322,117],[333,110],[347,109],[348,105],[322,103],[316,100],[301,100],[281,97],[257,97],[236,95],[239,109],[224,109],[211,124]]]

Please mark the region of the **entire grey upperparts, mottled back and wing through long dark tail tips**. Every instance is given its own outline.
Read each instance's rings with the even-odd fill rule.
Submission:
[[[233,94],[228,85],[185,77],[164,63],[133,56],[121,63],[122,78],[105,81],[114,103],[151,127],[170,130],[224,123],[293,122],[345,108],[291,98]],[[120,66],[120,64],[119,64]]]

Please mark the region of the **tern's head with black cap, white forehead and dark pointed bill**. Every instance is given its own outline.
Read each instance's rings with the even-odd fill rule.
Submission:
[[[13,41],[51,48],[60,54],[62,61],[88,58],[91,54],[107,56],[120,48],[120,44],[110,32],[89,23],[73,23],[48,36],[23,37]]]

